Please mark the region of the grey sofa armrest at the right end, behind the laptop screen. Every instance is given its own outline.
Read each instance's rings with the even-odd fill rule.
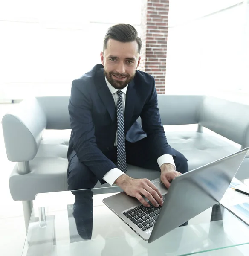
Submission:
[[[249,105],[206,97],[200,109],[200,125],[246,148],[249,146]]]

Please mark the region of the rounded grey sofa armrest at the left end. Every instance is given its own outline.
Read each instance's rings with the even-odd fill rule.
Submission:
[[[23,100],[12,113],[2,119],[7,157],[12,162],[32,160],[37,154],[46,116],[37,99]]]

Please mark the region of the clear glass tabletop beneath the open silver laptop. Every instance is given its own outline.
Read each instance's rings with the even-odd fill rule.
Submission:
[[[220,204],[149,244],[103,204],[117,192],[115,186],[38,194],[22,256],[183,256],[249,244],[249,226]]]

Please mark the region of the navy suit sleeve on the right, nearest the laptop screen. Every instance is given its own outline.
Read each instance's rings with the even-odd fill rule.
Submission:
[[[154,78],[151,94],[145,102],[140,116],[142,120],[142,128],[146,132],[150,143],[151,154],[153,154],[156,159],[164,154],[175,156],[174,151],[168,144],[168,141],[165,137],[164,128],[162,126],[162,121],[159,115]]]

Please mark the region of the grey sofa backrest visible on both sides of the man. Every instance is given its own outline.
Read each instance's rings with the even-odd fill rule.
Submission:
[[[46,129],[70,129],[69,96],[37,97],[46,116]],[[201,95],[158,95],[158,108],[163,125],[198,123]]]

